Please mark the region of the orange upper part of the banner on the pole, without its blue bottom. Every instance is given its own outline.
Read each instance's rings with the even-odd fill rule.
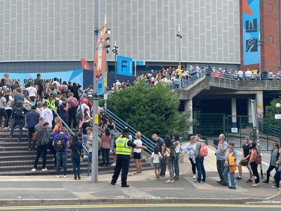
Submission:
[[[106,27],[103,26],[100,28],[98,33],[98,39],[96,43],[95,51],[95,72],[94,77],[97,81],[103,79],[103,74],[105,73],[105,35]]]

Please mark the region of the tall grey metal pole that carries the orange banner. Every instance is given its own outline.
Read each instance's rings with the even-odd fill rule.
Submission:
[[[94,44],[96,45],[98,39],[98,0],[95,0],[95,32]],[[96,90],[96,77],[95,77],[95,56],[93,59],[93,144],[92,144],[92,172],[91,181],[98,181],[98,94]]]

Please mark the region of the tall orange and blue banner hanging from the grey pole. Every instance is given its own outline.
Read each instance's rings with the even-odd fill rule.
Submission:
[[[103,26],[100,28],[98,33],[98,39],[96,42],[96,51],[95,51],[95,72],[94,77],[96,79],[96,89],[98,94],[103,94],[105,91],[104,79],[105,79],[105,36],[106,36],[106,27]]]

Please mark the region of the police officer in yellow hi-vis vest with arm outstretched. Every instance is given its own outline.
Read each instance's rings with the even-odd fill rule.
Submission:
[[[146,146],[137,146],[133,141],[129,140],[130,130],[125,127],[122,130],[122,136],[115,140],[115,151],[117,155],[115,172],[112,176],[111,184],[115,185],[119,177],[120,171],[122,170],[121,187],[129,187],[127,184],[127,176],[129,172],[130,156],[132,148],[147,149]]]

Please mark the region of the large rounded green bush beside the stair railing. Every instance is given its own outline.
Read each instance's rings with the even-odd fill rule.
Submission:
[[[110,94],[107,107],[148,138],[177,132],[184,136],[189,113],[178,112],[179,99],[166,84],[148,88],[145,81]]]

